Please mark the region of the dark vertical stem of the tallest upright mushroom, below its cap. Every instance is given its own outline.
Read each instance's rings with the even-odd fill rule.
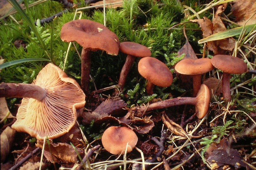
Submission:
[[[81,52],[81,89],[85,96],[89,94],[91,61],[91,51],[88,48],[83,48]]]

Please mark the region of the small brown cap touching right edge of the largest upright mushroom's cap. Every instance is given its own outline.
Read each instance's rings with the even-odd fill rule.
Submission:
[[[151,51],[144,45],[136,42],[121,42],[119,50],[127,55],[135,57],[150,57]]]

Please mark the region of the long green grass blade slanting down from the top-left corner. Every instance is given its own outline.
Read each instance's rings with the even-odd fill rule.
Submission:
[[[48,55],[49,59],[52,60],[52,56],[49,53],[47,47],[44,44],[43,39],[41,38],[40,34],[38,33],[36,26],[34,24],[34,22],[32,21],[31,17],[29,17],[20,7],[19,3],[16,0],[9,0],[10,3],[12,4],[12,6],[15,8],[15,10],[22,16],[22,18],[27,22],[28,26],[30,27],[30,29],[34,32],[37,40],[39,41],[39,43],[41,44],[42,48],[44,49],[44,51],[46,52],[46,54]],[[24,1],[27,10],[28,10],[28,5],[27,5],[27,1]]]

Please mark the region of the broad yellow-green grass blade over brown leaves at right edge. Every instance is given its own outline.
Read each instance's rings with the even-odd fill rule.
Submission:
[[[225,39],[228,37],[239,35],[239,34],[241,34],[242,30],[245,30],[245,33],[249,33],[251,30],[256,29],[255,26],[256,26],[255,24],[248,25],[248,26],[239,26],[239,27],[236,27],[233,29],[229,29],[227,31],[215,33],[215,34],[210,35],[209,37],[199,40],[198,43],[201,44],[201,43],[208,42],[208,41],[222,40],[222,39]]]

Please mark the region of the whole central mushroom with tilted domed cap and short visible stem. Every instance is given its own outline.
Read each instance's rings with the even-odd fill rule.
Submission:
[[[148,80],[146,92],[148,95],[153,94],[155,85],[168,87],[172,84],[172,72],[160,60],[153,57],[144,57],[138,63],[140,75]]]

